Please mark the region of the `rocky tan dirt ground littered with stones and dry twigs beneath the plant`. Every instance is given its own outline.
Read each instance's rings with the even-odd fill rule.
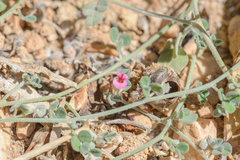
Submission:
[[[8,8],[16,1],[6,1]],[[85,4],[89,1],[86,0]],[[190,0],[121,1],[137,8],[174,17],[177,17],[190,2]],[[86,17],[82,14],[82,7],[82,0],[24,0],[17,9],[21,9],[23,15],[35,15],[37,22],[25,22],[12,15],[0,21],[1,98],[21,82],[22,73],[42,75],[42,88],[23,87],[14,92],[8,98],[8,101],[40,98],[57,94],[70,87],[76,87],[78,83],[105,71],[120,60],[116,44],[111,42],[110,39],[109,31],[111,27],[117,27],[121,33],[131,35],[131,44],[123,48],[123,55],[127,56],[169,23],[167,20],[147,17],[115,4],[110,4],[110,8],[103,13],[103,21],[94,27],[89,27],[85,25]],[[240,1],[199,0],[199,11],[201,17],[208,21],[210,33],[215,34],[217,38],[223,41],[223,44],[217,49],[225,65],[230,68],[238,61],[235,51],[240,49],[239,43],[231,46],[231,39],[240,27]],[[17,10],[14,13],[17,13]],[[188,17],[190,16],[191,14]],[[167,39],[175,39],[181,31],[183,31],[182,25],[174,24],[163,36],[148,46],[147,49],[139,52],[137,56],[107,76],[64,96],[62,101],[68,101],[73,105],[80,116],[123,106],[120,103],[110,105],[103,95],[104,92],[114,91],[112,88],[113,75],[122,69],[130,69],[134,77],[134,74],[136,76],[141,72],[140,67],[135,67],[134,70],[134,66],[139,64],[139,66],[144,67],[153,65],[157,62],[160,56],[159,51]],[[240,36],[235,38],[238,42],[240,41]],[[186,36],[182,47],[190,59],[187,67],[178,75],[181,88],[184,89],[192,56],[196,51],[192,32]],[[199,81],[206,84],[221,74],[222,71],[211,52],[208,49],[202,50],[194,68],[191,88],[196,87]],[[224,88],[226,91],[227,83],[226,79],[222,80],[217,84],[217,87]],[[136,88],[130,91],[133,92],[134,89]],[[227,159],[240,159],[239,110],[233,116],[227,118],[223,116],[213,117],[212,113],[219,103],[219,98],[213,89],[210,88],[209,92],[208,102],[205,104],[199,103],[196,94],[189,95],[184,104],[191,113],[199,115],[196,123],[184,125],[174,121],[173,125],[187,135],[197,146],[201,139],[208,135],[214,138],[223,138],[224,141],[228,141],[233,146],[233,153]],[[28,104],[28,107],[33,108],[38,104],[45,104],[49,107],[52,102],[32,103]],[[171,108],[158,110],[152,108],[149,104],[145,104],[144,107],[145,111],[160,118],[169,117],[172,113]],[[0,109],[1,118],[13,116],[9,109],[10,107]],[[28,117],[32,117],[32,115]],[[45,116],[45,118],[47,117],[48,115]],[[74,114],[68,110],[67,118],[72,117],[74,117]],[[132,121],[135,123],[130,123]],[[89,125],[97,135],[104,131],[118,133],[112,143],[102,148],[103,159],[111,159],[142,146],[156,137],[164,127],[152,118],[134,110],[95,118]],[[44,146],[70,133],[71,130],[65,123],[2,123],[0,125],[0,157],[8,160],[17,158],[32,149]],[[184,141],[172,130],[169,130],[166,135]],[[203,159],[191,147],[190,151],[183,155],[187,160]],[[71,148],[70,141],[66,140],[55,149],[36,155],[32,159],[80,160],[84,157],[79,152],[74,151]],[[170,151],[167,143],[160,141],[126,159],[173,160],[178,158],[175,153]],[[212,156],[211,159],[224,159],[224,157]]]

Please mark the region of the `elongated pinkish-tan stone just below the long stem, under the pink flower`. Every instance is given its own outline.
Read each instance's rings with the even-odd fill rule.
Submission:
[[[127,114],[128,117],[132,118],[135,122],[141,123],[145,126],[147,126],[148,128],[152,128],[152,122],[151,119],[148,118],[147,116],[136,112],[136,111],[130,111]]]

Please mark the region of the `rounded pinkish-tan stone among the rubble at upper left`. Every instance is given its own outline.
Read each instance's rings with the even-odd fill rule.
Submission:
[[[45,46],[42,37],[36,32],[27,31],[25,34],[27,34],[27,37],[25,38],[26,48],[29,52],[40,50]]]

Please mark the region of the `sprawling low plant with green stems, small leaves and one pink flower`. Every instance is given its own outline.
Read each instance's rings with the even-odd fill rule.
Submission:
[[[0,20],[6,18],[9,15],[12,15],[13,10],[19,6],[19,4],[23,0],[18,0],[8,11],[6,11],[4,14],[0,16]],[[189,4],[188,8],[184,10],[178,18],[165,16],[153,12],[148,12],[141,10],[139,8],[136,8],[134,6],[130,6],[126,3],[123,3],[119,0],[98,0],[98,2],[90,1],[87,4],[84,5],[82,8],[82,13],[84,16],[86,16],[86,25],[89,26],[95,26],[99,24],[102,19],[103,15],[102,12],[106,12],[109,3],[113,3],[115,5],[119,5],[121,7],[124,7],[126,9],[133,10],[137,13],[145,14],[147,16],[154,16],[166,20],[170,20],[171,23],[166,25],[164,28],[162,28],[158,33],[153,35],[149,40],[147,40],[145,43],[143,43],[139,48],[137,48],[134,52],[129,54],[126,57],[122,56],[122,59],[117,62],[115,65],[111,66],[110,68],[106,69],[102,73],[89,78],[88,80],[85,80],[77,85],[76,88],[70,88],[66,91],[60,92],[55,95],[50,95],[46,97],[41,98],[33,98],[33,99],[26,99],[26,100],[19,100],[19,101],[6,101],[7,98],[15,92],[17,89],[21,88],[22,86],[26,84],[30,84],[33,87],[40,88],[40,78],[38,75],[33,75],[32,77],[28,74],[23,74],[22,76],[22,82],[15,87],[11,92],[7,93],[5,97],[0,102],[0,107],[6,107],[6,106],[12,106],[10,111],[14,112],[13,118],[6,118],[6,119],[0,119],[1,123],[4,122],[47,122],[47,123],[68,123],[72,128],[77,128],[80,125],[77,125],[77,121],[80,121],[82,124],[84,124],[83,120],[91,119],[91,118],[97,118],[101,116],[106,116],[114,113],[118,113],[121,111],[128,110],[130,108],[134,108],[135,110],[146,114],[149,117],[152,117],[153,119],[156,119],[160,121],[161,123],[165,124],[164,129],[161,133],[159,133],[158,136],[156,136],[153,140],[150,142],[142,145],[139,148],[136,148],[128,153],[122,154],[114,159],[124,159],[125,157],[128,157],[134,153],[139,152],[140,150],[147,148],[151,145],[153,145],[156,142],[159,142],[160,140],[165,140],[166,143],[169,144],[170,149],[173,152],[176,152],[179,158],[184,158],[182,155],[183,153],[186,153],[189,149],[189,146],[184,142],[178,142],[176,140],[172,140],[169,137],[164,136],[165,133],[168,131],[169,128],[174,130],[177,134],[182,136],[195,150],[199,152],[199,154],[205,158],[209,159],[211,154],[214,155],[223,155],[228,156],[232,152],[232,147],[229,143],[225,142],[223,143],[223,140],[220,138],[212,138],[208,137],[208,139],[203,139],[199,146],[201,149],[212,149],[212,151],[208,151],[209,153],[205,154],[200,150],[193,142],[189,140],[187,136],[185,136],[183,133],[181,133],[179,130],[177,130],[175,127],[171,125],[171,122],[173,120],[179,120],[182,123],[190,124],[197,120],[198,115],[197,114],[190,114],[189,109],[184,108],[183,104],[188,94],[190,93],[197,93],[197,97],[199,99],[200,103],[206,103],[207,102],[207,96],[209,95],[209,88],[213,88],[215,91],[218,92],[219,99],[221,103],[219,103],[216,107],[216,110],[214,110],[213,114],[214,116],[226,116],[228,113],[233,113],[236,108],[239,108],[239,102],[240,102],[240,90],[239,90],[239,83],[235,78],[231,76],[231,72],[237,69],[240,66],[240,62],[238,62],[236,65],[234,65],[230,70],[227,69],[225,66],[223,60],[219,56],[219,53],[216,49],[216,46],[220,45],[222,41],[220,39],[217,39],[215,35],[210,35],[208,30],[208,23],[206,20],[201,19],[198,11],[198,4],[197,0],[192,0]],[[0,12],[5,11],[6,5],[4,1],[0,1]],[[191,19],[186,19],[186,16],[188,13],[192,11],[192,17]],[[26,15],[23,16],[21,11],[18,10],[18,14],[13,14],[14,16],[18,16],[22,20],[25,20],[27,22],[35,22],[36,17],[33,15]],[[142,92],[144,94],[144,98],[140,99],[133,103],[128,103],[124,97],[123,94],[126,94],[127,91],[131,88],[131,82],[130,82],[130,71],[129,70],[122,70],[121,72],[118,72],[116,77],[113,80],[113,85],[115,87],[115,93],[104,93],[104,96],[106,96],[106,99],[108,100],[110,105],[115,105],[118,102],[121,102],[125,104],[125,106],[118,107],[109,111],[104,111],[101,113],[96,113],[92,115],[87,116],[79,116],[78,113],[66,102],[66,105],[70,108],[70,110],[74,113],[76,117],[66,119],[67,112],[63,107],[59,106],[59,99],[61,97],[76,91],[76,89],[79,89],[107,74],[109,74],[111,71],[115,70],[119,66],[121,66],[123,63],[130,60],[132,57],[134,57],[136,54],[138,54],[141,50],[147,48],[151,43],[156,41],[161,35],[163,35],[170,26],[172,26],[174,23],[181,23],[183,24],[184,31],[180,33],[174,42],[173,40],[168,40],[162,50],[160,51],[162,54],[158,59],[158,63],[162,65],[170,66],[174,69],[176,73],[180,73],[180,71],[187,65],[188,63],[188,56],[186,52],[181,48],[183,39],[186,37],[186,35],[193,31],[194,33],[194,40],[197,45],[197,50],[195,55],[192,58],[191,67],[189,70],[187,83],[185,86],[184,91],[178,91],[169,93],[170,86],[165,81],[161,84],[151,82],[150,77],[148,76],[142,76],[140,79],[140,86],[142,89]],[[127,46],[131,43],[131,36],[126,33],[122,33],[119,36],[119,30],[117,27],[113,27],[110,29],[110,38],[112,42],[116,43],[116,48],[119,53],[122,54],[122,48],[124,46]],[[202,85],[202,82],[198,83],[198,86],[193,89],[189,89],[191,77],[193,73],[193,68],[196,62],[196,58],[198,55],[199,50],[204,49],[208,47],[210,51],[212,52],[215,60],[217,61],[219,67],[222,69],[223,74],[219,76],[217,79],[213,80],[212,82],[209,82],[205,85]],[[227,94],[224,94],[222,88],[217,88],[216,83],[223,80],[224,78],[227,78],[229,81],[228,87],[233,90],[231,92],[228,92]],[[156,100],[162,100],[162,99],[168,99],[168,98],[174,98],[177,96],[181,96],[181,99],[174,110],[173,114],[167,118],[166,121],[161,120],[160,118],[146,113],[144,111],[139,110],[136,108],[137,106],[153,102]],[[47,101],[47,100],[55,100],[50,105],[50,108],[48,109],[48,112],[46,111],[46,107],[44,105],[38,105],[35,109],[29,109],[29,107],[25,104],[27,103],[34,103],[39,101]],[[21,110],[23,114],[17,115],[18,110]],[[49,118],[42,118],[48,113]],[[40,118],[20,118],[22,116],[33,114],[33,117],[40,117]],[[96,138],[93,138],[93,135],[90,133],[90,131],[82,130],[79,132],[79,134],[75,134],[73,132],[73,136],[71,138],[71,145],[72,148],[80,152],[81,154],[86,156],[86,159],[91,159],[92,156],[95,157],[101,157],[102,152],[100,149],[95,147],[95,142],[98,141],[99,144],[104,145],[107,142],[112,141],[112,138],[116,136],[116,133],[108,133],[105,132],[101,136],[97,136]]]

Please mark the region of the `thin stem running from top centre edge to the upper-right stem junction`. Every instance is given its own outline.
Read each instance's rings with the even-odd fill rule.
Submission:
[[[110,0],[110,2],[111,2],[111,3],[114,3],[114,4],[116,4],[116,5],[119,5],[119,6],[121,6],[121,7],[130,9],[130,10],[132,10],[132,11],[135,11],[135,12],[137,12],[137,13],[141,13],[141,14],[147,15],[147,16],[158,17],[158,18],[166,19],[166,20],[173,21],[173,22],[179,22],[179,23],[191,25],[191,21],[189,21],[189,20],[184,20],[184,19],[179,19],[179,18],[174,18],[174,17],[162,15],[162,14],[157,14],[157,13],[153,13],[153,12],[148,12],[148,11],[145,11],[145,10],[142,10],[142,9],[139,9],[139,8],[136,8],[136,7],[133,7],[133,6],[131,6],[131,5],[128,5],[128,4],[126,4],[126,3],[123,3],[123,2],[121,2],[121,1],[119,1],[119,0]]]

